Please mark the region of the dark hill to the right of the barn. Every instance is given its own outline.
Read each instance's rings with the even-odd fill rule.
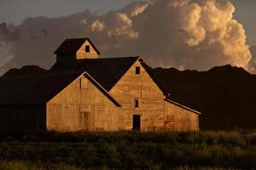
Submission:
[[[201,129],[256,128],[256,75],[231,65],[209,71],[152,71],[171,99],[201,111]]]

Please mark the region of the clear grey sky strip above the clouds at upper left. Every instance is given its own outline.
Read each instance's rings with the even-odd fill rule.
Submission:
[[[102,14],[131,2],[131,0],[1,0],[0,20],[18,24],[26,17],[65,16],[81,12],[86,8]]]

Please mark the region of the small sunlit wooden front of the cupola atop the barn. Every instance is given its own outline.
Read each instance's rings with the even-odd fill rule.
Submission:
[[[85,46],[90,46],[90,52],[85,52]],[[96,53],[96,50],[92,47],[89,41],[84,42],[84,44],[77,51],[77,59],[96,59],[99,58],[99,55]]]

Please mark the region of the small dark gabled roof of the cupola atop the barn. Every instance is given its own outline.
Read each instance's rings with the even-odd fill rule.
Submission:
[[[90,42],[90,45],[95,49],[97,54],[100,54],[88,37],[66,39],[61,43],[60,47],[55,50],[54,54],[75,54],[86,41]]]

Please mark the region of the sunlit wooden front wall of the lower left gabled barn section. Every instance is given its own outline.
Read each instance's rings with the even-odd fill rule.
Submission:
[[[47,103],[47,128],[56,131],[117,129],[119,108],[82,76]]]

